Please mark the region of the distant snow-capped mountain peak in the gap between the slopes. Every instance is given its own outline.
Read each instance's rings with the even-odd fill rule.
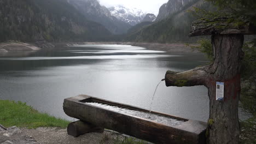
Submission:
[[[117,19],[129,23],[132,26],[141,22],[146,16],[146,13],[142,10],[137,8],[126,8],[123,5],[116,5],[108,9],[112,16],[117,17]]]

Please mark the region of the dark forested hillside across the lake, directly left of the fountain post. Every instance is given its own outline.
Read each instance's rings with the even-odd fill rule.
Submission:
[[[136,33],[129,34],[125,39],[130,41],[173,43],[196,41],[200,37],[189,38],[191,23],[197,19],[189,13],[194,7],[202,9],[213,9],[210,3],[203,0],[191,1],[176,13],[169,15],[166,19],[155,22],[148,27],[139,29]]]

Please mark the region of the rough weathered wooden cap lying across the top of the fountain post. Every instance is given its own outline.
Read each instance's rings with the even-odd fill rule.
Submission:
[[[242,18],[202,19],[192,23],[189,36],[212,34],[256,34],[256,27]]]

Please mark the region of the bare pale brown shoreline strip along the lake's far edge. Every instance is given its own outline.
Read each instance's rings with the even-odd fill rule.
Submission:
[[[166,52],[198,52],[192,51],[190,47],[184,43],[137,43],[137,42],[62,42],[62,43],[21,43],[19,41],[10,41],[0,43],[0,55],[7,53],[17,53],[20,51],[38,51],[38,50],[54,50],[54,49],[65,49],[68,46],[74,45],[132,45],[145,47],[149,50],[158,50]]]

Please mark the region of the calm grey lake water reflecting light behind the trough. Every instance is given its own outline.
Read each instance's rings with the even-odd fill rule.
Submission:
[[[63,99],[79,94],[149,109],[167,70],[184,71],[207,61],[200,53],[167,53],[128,45],[77,45],[23,57],[0,57],[0,99],[20,100],[40,112],[72,120]],[[152,110],[207,121],[204,86],[166,87]]]

